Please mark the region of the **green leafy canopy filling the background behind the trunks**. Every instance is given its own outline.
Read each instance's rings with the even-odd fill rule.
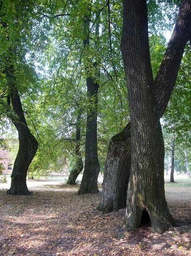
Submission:
[[[179,1],[148,1],[154,76],[167,44],[165,32],[173,28],[178,4]],[[11,125],[9,118],[17,118],[7,101],[5,68],[9,59],[27,124],[39,141],[37,155],[29,167],[31,175],[62,172],[66,165],[72,166],[77,115],[81,110],[84,158],[86,113],[95,107],[95,97],[87,102],[87,75],[99,83],[98,155],[101,171],[104,170],[110,138],[129,122],[120,51],[122,12],[122,0],[110,1],[109,6],[103,0],[0,1],[0,126],[6,132]],[[85,43],[87,38],[89,43]],[[178,144],[178,140],[185,144],[189,141],[190,57],[187,47],[164,115],[167,132],[172,133],[170,127],[175,125]]]

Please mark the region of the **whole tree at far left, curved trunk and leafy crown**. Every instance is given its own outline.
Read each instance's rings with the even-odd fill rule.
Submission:
[[[31,134],[23,111],[21,95],[29,92],[31,84],[37,84],[37,75],[26,59],[28,49],[34,50],[31,24],[34,17],[29,15],[35,6],[32,2],[0,1],[0,50],[1,59],[1,106],[4,115],[11,120],[18,131],[19,149],[11,174],[11,187],[7,194],[29,195],[26,175],[29,164],[37,152],[38,142]],[[33,39],[33,40],[32,40]],[[31,43],[29,43],[31,40]],[[28,52],[29,54],[29,52]],[[2,114],[2,112],[1,112]]]

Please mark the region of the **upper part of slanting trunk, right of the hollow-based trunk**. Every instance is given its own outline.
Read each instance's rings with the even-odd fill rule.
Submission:
[[[191,1],[182,0],[173,34],[170,38],[162,64],[155,78],[159,118],[162,117],[176,82],[184,48],[190,37]]]

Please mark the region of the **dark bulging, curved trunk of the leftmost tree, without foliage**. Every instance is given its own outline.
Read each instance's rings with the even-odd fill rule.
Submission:
[[[26,123],[20,96],[15,86],[13,66],[10,66],[6,69],[6,76],[8,88],[10,91],[8,98],[11,98],[12,108],[16,114],[16,116],[11,116],[11,120],[18,131],[19,141],[19,149],[11,174],[11,187],[7,191],[7,194],[29,195],[30,192],[26,185],[26,175],[29,164],[37,152],[38,142],[33,134],[31,134]]]

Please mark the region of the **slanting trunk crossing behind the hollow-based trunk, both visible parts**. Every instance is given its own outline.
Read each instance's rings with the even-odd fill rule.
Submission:
[[[175,28],[173,30],[173,34],[169,41],[161,67],[158,71],[158,75],[154,81],[159,118],[162,117],[173,90],[184,48],[190,37],[190,27],[191,4],[189,0],[183,0],[180,6],[180,12],[176,21]],[[119,143],[117,138],[119,138]],[[128,149],[130,148],[129,141],[130,133],[127,135],[127,137],[124,136],[123,138],[123,144],[126,145]],[[122,151],[118,148],[118,146],[121,146],[120,136],[116,136],[115,143],[115,147],[109,146],[107,154],[102,202],[99,206],[99,210],[103,210],[103,212],[105,212],[106,209],[107,211],[114,210],[114,195],[120,195],[120,191],[125,191],[125,187],[121,187],[125,185],[123,182],[124,173],[121,173],[122,170],[124,170],[122,166],[130,166],[131,152],[128,150],[126,153],[125,151]],[[112,145],[111,142],[110,145]],[[118,155],[115,154],[115,151],[118,152]],[[129,154],[129,156],[124,157],[124,154]],[[118,161],[120,158],[121,161]],[[124,172],[129,173],[130,168],[124,170]],[[109,177],[117,177],[118,180],[115,178],[109,179]],[[126,180],[128,180],[128,177]],[[121,184],[120,189],[118,184]],[[107,190],[108,187],[110,187],[110,190]],[[122,198],[123,197],[124,196],[122,196]],[[121,204],[121,208],[122,207],[125,207],[125,204]]]

